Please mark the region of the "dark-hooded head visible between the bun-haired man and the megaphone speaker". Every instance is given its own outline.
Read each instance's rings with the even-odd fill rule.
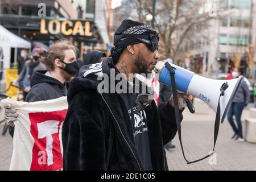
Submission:
[[[106,57],[106,54],[104,52],[96,50],[89,51],[84,56],[84,65],[100,63],[104,59],[104,57]]]

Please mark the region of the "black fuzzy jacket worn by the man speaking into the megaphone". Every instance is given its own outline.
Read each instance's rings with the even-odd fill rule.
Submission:
[[[110,61],[112,59],[105,58],[102,63],[82,67],[80,77],[71,81],[62,131],[64,170],[144,169],[122,97],[118,93],[97,91],[101,82],[97,76],[110,74]],[[152,167],[167,170],[163,146],[177,131],[174,108],[168,102],[158,107],[151,102],[144,111],[148,119]]]

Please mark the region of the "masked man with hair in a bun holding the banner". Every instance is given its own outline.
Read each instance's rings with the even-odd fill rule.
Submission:
[[[76,49],[67,40],[60,40],[52,44],[48,51],[40,49],[40,61],[47,67],[47,71],[36,71],[31,77],[31,90],[26,102],[46,101],[67,96],[67,85],[79,66],[76,63]],[[16,110],[10,105],[5,106],[5,118],[9,124],[9,133],[13,137]]]

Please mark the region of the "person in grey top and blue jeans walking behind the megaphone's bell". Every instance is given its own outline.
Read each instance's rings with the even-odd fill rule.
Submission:
[[[238,69],[236,68],[232,72],[233,78],[237,78],[240,76],[243,77],[243,74],[244,74],[244,69],[242,67],[239,67]],[[234,135],[232,139],[236,140],[237,142],[244,141],[243,135],[242,135],[241,115],[245,106],[249,104],[249,101],[250,101],[250,90],[246,82],[242,78],[241,84],[237,90],[237,93],[234,97],[232,105],[230,106],[230,109],[228,111],[228,121],[234,131]],[[233,115],[235,115],[236,117],[237,126],[233,121]]]

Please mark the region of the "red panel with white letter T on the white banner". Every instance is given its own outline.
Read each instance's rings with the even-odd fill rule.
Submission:
[[[67,109],[28,114],[30,132],[35,140],[30,170],[56,171],[63,168],[60,127],[66,114]]]

